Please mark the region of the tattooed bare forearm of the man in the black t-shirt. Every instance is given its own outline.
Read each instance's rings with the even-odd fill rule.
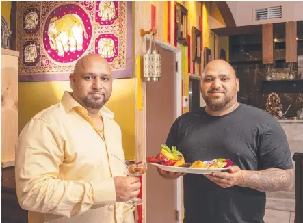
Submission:
[[[262,171],[245,171],[241,187],[250,187],[260,192],[288,191],[293,187],[294,170],[271,168]]]

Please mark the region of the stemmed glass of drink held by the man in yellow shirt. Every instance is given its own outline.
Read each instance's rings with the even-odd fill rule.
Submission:
[[[125,165],[127,166],[125,173],[127,176],[135,176],[140,177],[142,176],[147,169],[147,163],[142,162],[135,162],[135,161],[125,161]],[[140,198],[133,198],[126,203],[129,205],[137,206],[142,204],[142,199]]]

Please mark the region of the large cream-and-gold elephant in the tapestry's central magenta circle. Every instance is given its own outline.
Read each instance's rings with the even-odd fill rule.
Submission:
[[[47,31],[50,47],[54,51],[57,50],[60,57],[64,56],[64,52],[83,49],[83,33],[84,37],[88,39],[83,21],[77,14],[51,18]]]

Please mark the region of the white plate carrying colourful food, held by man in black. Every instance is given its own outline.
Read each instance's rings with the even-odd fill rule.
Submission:
[[[228,170],[230,168],[213,168],[213,169],[204,169],[204,168],[185,168],[179,166],[165,166],[157,163],[150,163],[153,166],[157,166],[161,170],[170,171],[170,172],[181,172],[185,174],[211,174],[212,172],[221,172],[223,170]]]

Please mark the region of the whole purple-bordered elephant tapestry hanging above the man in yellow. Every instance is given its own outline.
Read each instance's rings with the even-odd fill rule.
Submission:
[[[133,75],[131,1],[18,1],[19,81],[68,81],[79,58],[104,57],[113,78]]]

